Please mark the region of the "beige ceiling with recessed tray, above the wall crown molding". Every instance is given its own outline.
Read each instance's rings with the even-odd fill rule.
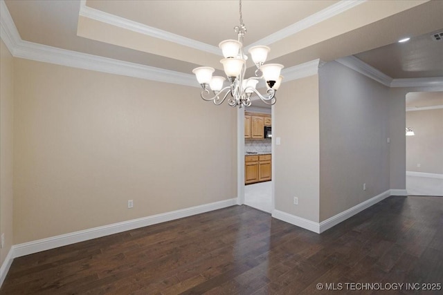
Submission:
[[[179,73],[213,66],[236,39],[238,1],[6,0],[21,39]],[[355,55],[392,78],[443,76],[443,1],[242,1],[244,46],[285,68]],[[397,44],[401,37],[410,41]],[[248,64],[253,73],[253,64]],[[197,82],[196,82],[197,83]]]

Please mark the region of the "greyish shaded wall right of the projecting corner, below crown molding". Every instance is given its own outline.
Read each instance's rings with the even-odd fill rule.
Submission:
[[[319,77],[321,222],[390,189],[390,151],[388,88],[336,61]]]

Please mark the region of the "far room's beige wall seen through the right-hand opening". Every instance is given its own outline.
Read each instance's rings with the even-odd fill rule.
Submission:
[[[443,109],[408,111],[406,126],[406,171],[443,174]]]

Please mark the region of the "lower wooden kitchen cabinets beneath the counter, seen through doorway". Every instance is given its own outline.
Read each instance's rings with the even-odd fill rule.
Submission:
[[[271,155],[246,155],[244,184],[271,180]]]

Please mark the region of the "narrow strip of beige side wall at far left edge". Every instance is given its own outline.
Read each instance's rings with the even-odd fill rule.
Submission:
[[[12,246],[12,121],[14,111],[13,58],[0,41],[0,233],[5,246],[0,249],[0,265]]]

